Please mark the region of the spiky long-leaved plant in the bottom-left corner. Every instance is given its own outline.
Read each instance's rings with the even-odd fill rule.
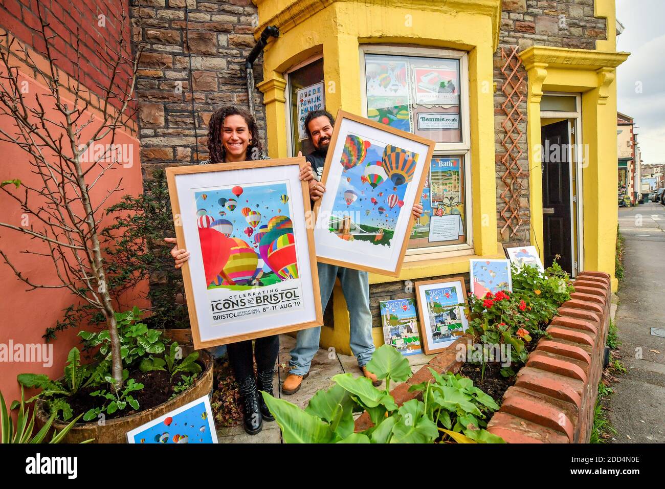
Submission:
[[[7,405],[5,405],[5,398],[0,392],[0,440],[2,441],[2,444],[42,443],[45,440],[49,430],[51,430],[51,426],[53,426],[55,413],[52,413],[49,417],[49,420],[44,424],[44,426],[42,426],[41,430],[39,430],[37,434],[33,435],[35,430],[35,407],[33,405],[33,412],[32,414],[29,414],[29,404],[31,404],[31,401],[25,401],[23,386],[21,386],[21,402],[19,403],[19,401],[14,401],[9,408],[11,410],[18,408],[16,426],[14,426],[11,414],[9,414],[9,409],[7,409]],[[69,432],[72,426],[74,426],[74,423],[78,421],[78,418],[80,418],[80,415],[74,418],[74,420],[67,424],[67,426],[65,426],[65,428],[63,428],[61,431],[54,432],[49,443],[60,443],[63,438],[65,438],[65,435]],[[91,441],[92,439],[85,440],[83,443],[88,443]]]

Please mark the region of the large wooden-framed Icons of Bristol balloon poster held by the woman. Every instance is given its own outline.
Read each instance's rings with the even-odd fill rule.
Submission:
[[[323,325],[304,165],[166,169],[196,349]]]

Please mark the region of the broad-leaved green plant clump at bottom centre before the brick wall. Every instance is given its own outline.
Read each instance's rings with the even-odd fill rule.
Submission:
[[[285,442],[432,443],[440,438],[440,432],[446,429],[443,420],[446,415],[447,419],[453,423],[450,427],[458,427],[458,409],[464,411],[464,416],[467,416],[462,419],[462,422],[470,422],[471,418],[468,416],[474,416],[476,424],[473,426],[478,431],[485,432],[479,428],[479,425],[485,413],[491,409],[493,401],[479,389],[473,391],[472,386],[467,385],[466,382],[460,383],[460,379],[454,376],[452,376],[454,381],[450,380],[451,376],[438,376],[436,387],[424,384],[416,387],[416,389],[420,388],[425,391],[423,401],[411,399],[402,406],[398,406],[389,392],[390,381],[404,382],[411,377],[412,372],[408,361],[394,348],[382,345],[372,355],[367,368],[378,379],[386,381],[384,391],[376,389],[372,385],[372,381],[366,377],[354,378],[348,373],[339,374],[332,377],[335,385],[327,391],[317,392],[304,410],[262,392],[265,403],[282,430]],[[450,387],[448,383],[456,385],[457,388]],[[471,396],[473,400],[462,399],[466,395]],[[449,399],[448,396],[456,397]],[[468,403],[464,404],[464,408],[459,406],[462,401]],[[482,404],[483,401],[489,405],[483,405],[483,411],[473,404],[473,402]],[[354,432],[353,414],[356,412],[367,412],[374,426],[362,432]],[[434,418],[435,414],[436,418]],[[438,422],[442,423],[441,428],[438,426]],[[477,438],[478,442],[500,440],[497,436],[485,433],[473,436]],[[458,439],[464,437],[467,442],[473,442],[472,438],[459,432],[456,432],[456,436]]]

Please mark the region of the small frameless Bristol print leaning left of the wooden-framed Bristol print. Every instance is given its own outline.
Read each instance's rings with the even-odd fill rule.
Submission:
[[[418,314],[414,299],[380,301],[379,307],[386,345],[394,347],[402,355],[420,353]]]

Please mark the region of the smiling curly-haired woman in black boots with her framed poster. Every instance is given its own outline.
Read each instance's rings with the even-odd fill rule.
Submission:
[[[166,170],[177,242],[185,245],[172,256],[183,267],[194,346],[228,344],[245,431],[256,434],[262,420],[274,420],[258,391],[273,393],[277,334],[323,324],[305,224],[302,180],[311,169],[301,170],[304,158],[266,161],[254,118],[234,107],[211,117],[208,149],[205,166]]]

